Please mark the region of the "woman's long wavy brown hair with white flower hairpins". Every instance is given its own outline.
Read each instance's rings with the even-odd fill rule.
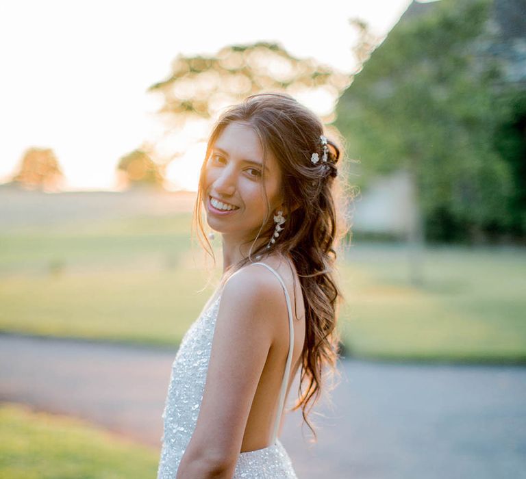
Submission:
[[[214,251],[203,229],[201,215],[203,195],[206,194],[203,181],[211,148],[231,122],[249,125],[257,133],[264,151],[264,164],[269,150],[277,159],[288,217],[279,239],[267,249],[266,244],[275,231],[275,224],[263,176],[262,192],[266,198],[267,214],[258,234],[248,239],[247,243],[251,243],[249,256],[231,266],[223,281],[252,262],[254,256],[261,255],[264,259],[266,255],[277,253],[293,261],[303,290],[305,343],[301,353],[298,400],[291,411],[302,408],[303,420],[314,434],[314,441],[317,441],[308,413],[318,401],[325,379],[340,374],[337,368],[340,333],[336,322],[344,296],[336,281],[334,266],[336,246],[342,238],[350,238],[347,202],[352,197],[345,191],[345,175],[339,174],[344,164],[341,161],[343,140],[336,129],[325,133],[318,116],[288,94],[255,94],[238,105],[228,107],[216,120],[208,140],[192,222],[192,235],[195,227],[199,226],[197,231],[205,239],[205,243],[201,244],[214,259],[214,266]],[[321,135],[327,138],[326,162],[322,161]],[[316,164],[311,161],[313,153],[318,153]],[[255,247],[258,238],[262,237],[266,242]],[[201,237],[199,239],[201,241]],[[334,384],[331,389],[334,389]],[[325,390],[328,392],[327,388]]]

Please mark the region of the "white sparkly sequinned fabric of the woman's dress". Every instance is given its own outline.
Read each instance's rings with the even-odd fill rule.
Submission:
[[[175,479],[195,429],[203,399],[221,294],[184,335],[172,365],[162,418],[164,435],[158,479]],[[240,452],[233,479],[297,479],[290,457],[279,439],[267,448]]]

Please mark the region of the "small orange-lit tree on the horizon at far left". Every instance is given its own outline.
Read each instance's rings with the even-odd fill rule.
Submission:
[[[60,189],[64,174],[51,148],[27,148],[23,153],[20,168],[13,175],[12,182],[25,190],[54,192]]]

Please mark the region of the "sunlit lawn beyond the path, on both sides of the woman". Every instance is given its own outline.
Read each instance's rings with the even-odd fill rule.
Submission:
[[[0,330],[177,344],[214,289],[190,214],[0,235]],[[211,263],[209,267],[212,268]],[[339,328],[356,357],[526,362],[526,251],[428,248],[421,286],[405,250],[340,255]],[[202,292],[199,292],[200,290]]]

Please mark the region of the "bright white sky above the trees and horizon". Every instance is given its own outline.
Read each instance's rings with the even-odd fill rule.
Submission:
[[[410,3],[3,1],[0,183],[27,148],[38,146],[57,155],[65,190],[117,190],[118,159],[163,138],[155,115],[160,99],[147,88],[166,79],[179,53],[271,41],[350,73],[355,34],[349,18],[362,18],[384,36]],[[193,144],[173,162],[170,189],[195,190],[202,153],[203,145]]]

